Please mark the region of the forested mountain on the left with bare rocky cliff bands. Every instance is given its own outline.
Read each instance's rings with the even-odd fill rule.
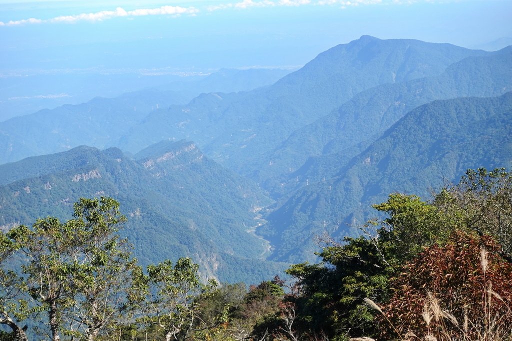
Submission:
[[[269,199],[192,142],[162,141],[133,158],[81,146],[0,165],[0,174],[3,230],[48,215],[69,219],[79,197],[111,196],[128,217],[122,233],[142,264],[188,256],[204,277],[248,283],[286,267],[265,261],[268,245],[251,233]]]

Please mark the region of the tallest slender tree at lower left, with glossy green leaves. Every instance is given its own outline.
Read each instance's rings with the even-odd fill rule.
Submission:
[[[129,296],[138,294],[130,290],[141,269],[132,246],[117,234],[126,218],[115,200],[81,198],[74,216],[80,225],[79,271],[74,273],[76,294],[66,319],[74,334],[92,341],[102,329],[129,319],[135,308]]]

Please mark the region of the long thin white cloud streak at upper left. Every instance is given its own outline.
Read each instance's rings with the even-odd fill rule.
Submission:
[[[180,6],[162,6],[159,8],[145,8],[126,11],[121,7],[116,8],[115,11],[99,11],[95,13],[81,13],[75,15],[61,15],[51,19],[24,19],[24,20],[11,20],[8,22],[0,21],[0,26],[16,26],[24,24],[41,24],[43,22],[76,22],[76,21],[101,21],[115,17],[127,16],[145,16],[145,15],[174,15],[181,14],[195,15],[199,10],[195,7],[180,7]]]

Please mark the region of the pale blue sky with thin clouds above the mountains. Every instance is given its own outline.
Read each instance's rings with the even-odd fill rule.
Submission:
[[[0,1],[0,72],[296,66],[369,34],[472,47],[510,0]]]

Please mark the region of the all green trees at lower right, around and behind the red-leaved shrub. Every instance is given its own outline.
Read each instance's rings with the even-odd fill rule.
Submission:
[[[386,213],[387,218],[380,222],[370,221],[363,229],[363,236],[345,238],[343,244],[328,240],[318,254],[322,257],[322,263],[292,265],[286,272],[296,279],[298,291],[296,295],[289,295],[287,301],[294,304],[296,333],[312,335],[323,332],[331,338],[379,334],[374,321],[375,311],[365,300],[386,304],[394,294],[391,287],[400,287],[390,281],[402,272],[407,274],[403,278],[418,281],[416,287],[428,287],[425,278],[411,275],[412,268],[427,266],[431,276],[446,275],[441,271],[441,264],[436,263],[440,260],[431,260],[429,265],[425,265],[422,262],[426,262],[426,256],[421,254],[423,258],[418,258],[418,254],[428,247],[437,250],[439,257],[449,257],[446,255],[448,246],[445,245],[453,243],[451,236],[456,231],[461,231],[458,233],[464,236],[479,233],[484,236],[482,238],[487,238],[489,252],[492,249],[493,254],[510,260],[506,252],[512,212],[509,209],[512,202],[510,177],[510,173],[503,169],[467,170],[459,184],[447,185],[434,196],[432,202],[422,201],[416,195],[391,194],[386,202],[374,206]],[[500,243],[492,242],[493,238]],[[416,263],[409,270],[403,270],[402,267],[412,260]],[[472,271],[472,267],[465,263],[455,262],[451,266],[454,271],[462,272],[452,274],[450,278],[461,281],[465,278],[463,271]],[[505,276],[507,272],[502,270],[505,271],[499,268],[498,272],[501,271],[500,276]],[[424,271],[427,273],[428,269]],[[450,285],[454,290],[463,287],[455,282]],[[502,286],[506,287],[505,284]],[[486,284],[483,287],[483,290],[488,289]],[[451,292],[447,287],[439,290]],[[422,299],[427,294],[423,292]],[[506,294],[502,297],[504,302],[509,302]],[[398,295],[393,300],[395,305],[400,304],[403,308],[412,299],[407,295]],[[418,312],[417,308],[411,309]],[[403,315],[403,311],[398,314]],[[421,311],[417,316],[421,317]],[[459,317],[457,315],[457,319]],[[481,316],[469,317],[478,321]],[[412,322],[406,319],[401,323],[408,325]],[[412,324],[411,328],[414,326]]]

